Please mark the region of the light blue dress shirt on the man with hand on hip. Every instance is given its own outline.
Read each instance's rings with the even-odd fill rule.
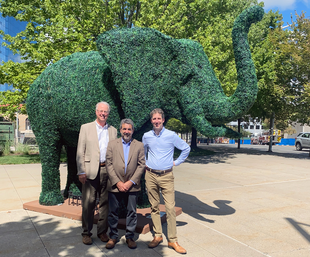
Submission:
[[[168,170],[173,166],[174,148],[181,150],[181,154],[176,159],[175,166],[180,165],[187,158],[191,148],[175,132],[165,129],[157,136],[154,130],[144,133],[142,138],[144,144],[144,154],[148,151],[146,165],[154,170]]]

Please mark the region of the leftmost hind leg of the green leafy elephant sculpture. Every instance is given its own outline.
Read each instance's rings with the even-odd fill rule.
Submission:
[[[57,205],[64,203],[60,192],[60,152],[61,140],[59,132],[50,130],[51,126],[42,126],[36,139],[39,146],[42,165],[41,205]]]

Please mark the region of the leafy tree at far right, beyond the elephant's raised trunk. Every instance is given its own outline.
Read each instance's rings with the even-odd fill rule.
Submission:
[[[259,92],[250,115],[269,120],[284,131],[294,121],[309,124],[309,19],[296,15],[291,30],[283,31],[282,22],[271,29],[253,59],[258,72]],[[273,118],[272,118],[273,117]],[[300,119],[300,120],[299,120]],[[272,137],[270,138],[272,140]],[[272,151],[269,144],[269,151]]]

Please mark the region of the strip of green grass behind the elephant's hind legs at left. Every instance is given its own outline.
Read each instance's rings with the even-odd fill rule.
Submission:
[[[60,155],[60,162],[67,162],[67,155]],[[4,155],[0,156],[0,165],[6,164],[28,164],[28,163],[41,163],[40,155]]]

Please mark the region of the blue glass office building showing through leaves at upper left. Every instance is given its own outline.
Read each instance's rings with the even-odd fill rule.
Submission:
[[[2,17],[0,14],[0,29],[5,33],[11,36],[16,36],[17,33],[23,31],[26,28],[27,22],[20,22],[15,20],[13,17]],[[0,63],[2,61],[7,62],[8,60],[12,60],[13,62],[24,62],[25,60],[20,59],[20,55],[13,54],[11,50],[7,47],[2,46],[2,42],[5,40],[0,36]],[[13,89],[12,85],[8,85],[7,83],[4,85],[0,85],[0,91]]]

